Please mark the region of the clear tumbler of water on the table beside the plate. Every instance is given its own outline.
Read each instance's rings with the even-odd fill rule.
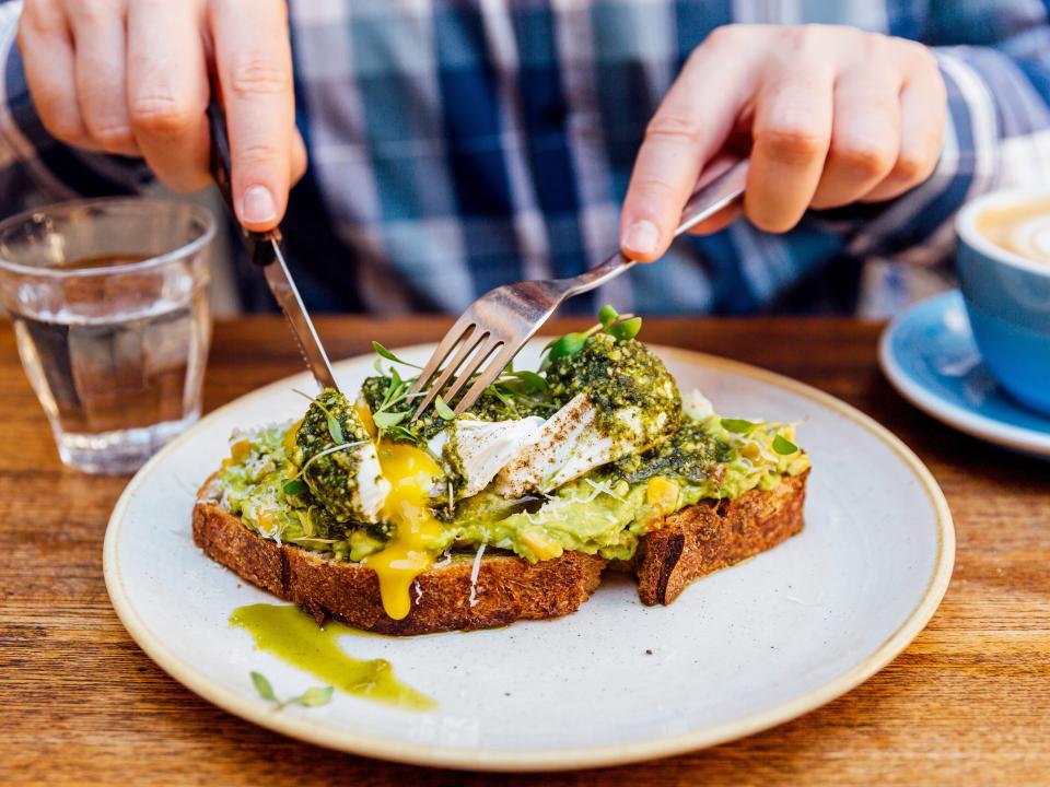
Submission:
[[[184,202],[66,202],[0,223],[0,303],[63,462],[127,473],[200,416],[215,223]]]

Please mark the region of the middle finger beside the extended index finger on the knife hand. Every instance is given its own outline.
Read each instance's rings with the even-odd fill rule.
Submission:
[[[164,185],[194,191],[208,174],[208,72],[191,3],[132,0],[128,106],[147,162]]]

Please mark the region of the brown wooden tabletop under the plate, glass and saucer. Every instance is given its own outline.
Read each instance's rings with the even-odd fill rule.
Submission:
[[[447,320],[319,320],[335,357],[440,337]],[[569,322],[556,326],[568,329]],[[909,407],[852,320],[648,320],[653,342],[758,364],[886,424],[930,466],[958,533],[955,577],[919,638],[865,684],[795,721],[645,765],[506,784],[1050,784],[1050,466]],[[217,326],[212,409],[301,368],[277,317]],[[859,460],[863,460],[859,457]],[[125,479],[62,468],[0,325],[0,783],[481,784],[313,748],[228,715],[125,633],[102,541]]]

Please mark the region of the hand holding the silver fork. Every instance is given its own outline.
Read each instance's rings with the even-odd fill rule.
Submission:
[[[649,124],[620,245],[632,259],[663,255],[698,179],[734,150],[750,149],[743,211],[767,232],[786,232],[806,208],[897,197],[933,172],[945,114],[944,82],[921,44],[853,27],[720,27]],[[693,232],[721,230],[739,211]]]

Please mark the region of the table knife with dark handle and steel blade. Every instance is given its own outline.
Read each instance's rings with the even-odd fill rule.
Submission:
[[[208,105],[208,126],[211,132],[211,176],[219,187],[226,210],[233,216],[241,231],[241,237],[248,250],[252,261],[262,269],[266,283],[273,293],[278,305],[292,327],[292,333],[299,343],[299,350],[306,361],[306,365],[322,388],[339,389],[336,377],[331,373],[328,354],[317,337],[306,306],[299,294],[295,281],[292,279],[284,255],[281,252],[281,232],[271,230],[265,233],[246,230],[233,209],[233,192],[230,186],[230,137],[226,133],[226,119],[222,105],[212,90],[212,98]]]

